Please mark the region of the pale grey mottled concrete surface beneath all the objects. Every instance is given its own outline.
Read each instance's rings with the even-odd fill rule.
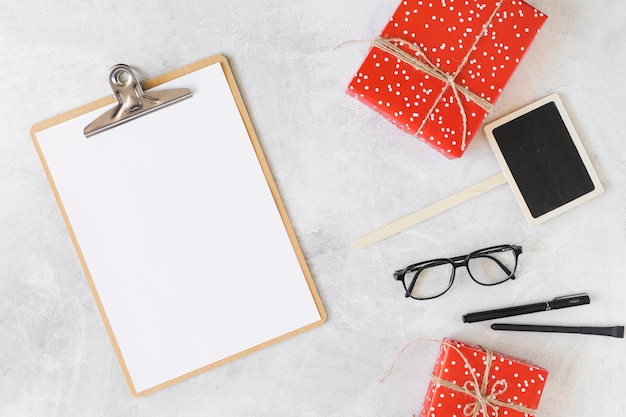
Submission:
[[[606,191],[538,227],[510,189],[366,250],[360,235],[498,172],[484,134],[449,161],[344,94],[396,0],[108,2],[0,7],[0,416],[410,416],[435,344],[455,337],[550,371],[539,416],[626,414],[626,342],[496,333],[461,315],[587,291],[589,306],[517,322],[626,324],[626,6],[533,0],[550,16],[488,120],[561,94]],[[328,322],[146,398],[132,397],[29,137],[43,119],[108,94],[106,71],[144,78],[229,57]],[[524,247],[519,279],[459,271],[445,297],[407,300],[394,269],[497,243]],[[513,320],[509,320],[513,321]]]

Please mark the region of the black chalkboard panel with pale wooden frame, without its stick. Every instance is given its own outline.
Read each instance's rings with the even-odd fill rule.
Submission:
[[[602,193],[558,95],[490,123],[485,132],[529,223],[541,223]]]

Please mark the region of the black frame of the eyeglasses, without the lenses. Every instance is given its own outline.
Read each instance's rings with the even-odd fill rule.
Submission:
[[[489,256],[492,253],[498,253],[498,252],[505,252],[508,250],[512,250],[513,254],[515,255],[515,265],[513,266],[513,270],[510,271],[506,266],[504,266],[502,264],[502,262],[500,262],[497,258]],[[467,272],[470,276],[470,278],[472,278],[472,280],[480,285],[483,285],[485,287],[490,287],[493,285],[498,285],[498,284],[502,284],[503,282],[506,282],[510,279],[515,279],[515,270],[517,269],[517,260],[519,258],[519,255],[522,253],[522,247],[518,246],[518,245],[498,245],[498,246],[491,246],[488,248],[484,248],[484,249],[479,249],[477,251],[474,251],[472,253],[470,253],[469,255],[464,255],[464,256],[455,256],[454,258],[438,258],[438,259],[431,259],[429,261],[423,261],[423,262],[418,262],[416,264],[412,264],[407,266],[404,269],[400,269],[397,270],[393,273],[393,277],[396,281],[402,281],[402,285],[404,285],[404,291],[405,294],[404,296],[407,298],[413,298],[415,300],[431,300],[433,298],[437,298],[437,297],[441,297],[442,295],[444,295],[451,287],[452,284],[454,283],[454,278],[456,275],[456,270],[457,268],[461,268],[461,267],[465,267],[465,269],[467,269]],[[493,283],[485,283],[485,282],[480,282],[478,281],[473,275],[472,275],[472,271],[470,270],[470,268],[468,267],[469,261],[471,259],[475,259],[475,258],[480,258],[480,257],[487,257],[491,260],[493,260],[494,262],[496,262],[500,268],[502,268],[502,270],[504,272],[506,272],[507,276],[506,278],[502,279],[501,281],[498,282],[493,282]],[[411,292],[413,291],[413,288],[415,287],[415,283],[417,282],[417,278],[419,276],[419,274],[426,268],[430,268],[433,266],[439,266],[439,265],[444,265],[444,264],[451,264],[452,265],[452,272],[450,274],[450,280],[448,283],[448,287],[441,292],[441,294],[438,295],[434,295],[432,297],[415,297],[413,295],[411,295]],[[404,280],[405,275],[408,272],[413,272],[413,271],[417,271],[415,273],[415,275],[413,276],[413,279],[411,280],[411,283],[409,285],[407,285],[406,281]]]

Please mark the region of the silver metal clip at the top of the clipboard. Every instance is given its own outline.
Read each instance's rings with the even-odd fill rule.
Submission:
[[[124,64],[115,65],[109,70],[109,84],[118,104],[83,129],[86,137],[191,97],[191,91],[187,88],[150,91],[146,94],[133,69]]]

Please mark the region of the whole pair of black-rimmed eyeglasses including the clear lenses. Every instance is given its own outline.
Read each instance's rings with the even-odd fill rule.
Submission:
[[[454,282],[456,269],[463,266],[480,285],[497,285],[515,279],[517,258],[521,253],[521,246],[492,246],[466,256],[433,259],[409,265],[394,272],[393,277],[404,284],[405,297],[428,300],[448,291]]]

